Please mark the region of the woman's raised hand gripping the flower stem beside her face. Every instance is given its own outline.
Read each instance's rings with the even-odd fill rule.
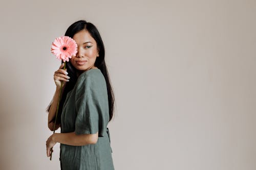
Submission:
[[[61,80],[63,81],[62,87],[66,85],[66,82],[69,81],[70,77],[67,76],[68,72],[66,71],[67,68],[64,70],[62,69],[64,66],[64,63],[62,63],[57,71],[54,72],[53,79],[56,84],[57,88],[60,88],[61,86]]]

